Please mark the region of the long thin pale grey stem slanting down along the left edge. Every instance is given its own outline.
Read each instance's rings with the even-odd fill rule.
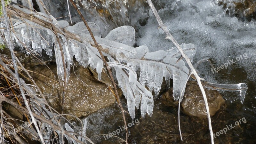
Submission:
[[[4,0],[1,0],[2,2],[2,9],[3,9],[3,13],[4,13],[4,20],[5,20],[5,24],[6,24],[6,32],[7,32],[7,39],[8,39],[8,48],[10,49],[10,52],[11,52],[11,55],[12,55],[12,61],[13,61],[13,67],[14,67],[14,71],[15,71],[15,75],[16,75],[16,79],[17,79],[17,82],[18,82],[18,85],[20,87],[20,92],[21,92],[21,95],[22,95],[22,98],[24,100],[24,103],[26,105],[26,108],[28,109],[28,113],[32,119],[32,123],[34,123],[35,127],[36,127],[36,131],[38,132],[38,135],[39,135],[39,138],[42,142],[42,144],[44,144],[44,139],[43,139],[43,136],[38,128],[38,125],[36,123],[36,119],[35,117],[33,116],[33,113],[30,109],[30,106],[28,104],[28,100],[25,96],[25,93],[23,91],[23,88],[21,87],[21,83],[20,83],[20,76],[18,74],[18,69],[17,69],[17,64],[15,63],[15,55],[14,55],[14,51],[13,51],[13,45],[12,45],[12,39],[11,39],[11,31],[10,31],[10,25],[9,25],[9,22],[8,22],[8,17],[7,17],[7,12],[6,12],[6,8],[5,8],[5,2]]]

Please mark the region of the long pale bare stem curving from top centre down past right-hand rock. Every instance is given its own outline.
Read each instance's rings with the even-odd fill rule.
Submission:
[[[156,17],[156,20],[159,24],[159,26],[163,29],[164,33],[166,34],[166,38],[165,39],[169,39],[172,41],[172,43],[177,47],[177,49],[180,51],[181,56],[186,60],[186,62],[188,63],[189,68],[191,69],[191,74],[193,74],[196,77],[196,81],[197,84],[199,85],[199,88],[203,94],[203,98],[204,98],[204,103],[205,103],[205,107],[206,107],[206,112],[207,112],[207,118],[208,118],[208,123],[209,123],[209,129],[210,129],[210,135],[211,135],[211,141],[212,144],[214,143],[213,141],[213,132],[212,132],[212,122],[211,122],[211,117],[210,117],[210,112],[209,112],[209,107],[208,107],[208,102],[207,102],[207,98],[206,98],[206,94],[204,92],[204,87],[201,83],[201,78],[198,76],[198,74],[196,73],[195,68],[193,67],[192,63],[190,62],[188,56],[185,54],[185,52],[181,49],[180,45],[178,44],[178,42],[174,39],[174,37],[170,34],[169,30],[166,28],[166,26],[164,25],[164,23],[162,22],[162,20],[160,19],[160,16],[158,15],[155,6],[153,5],[151,0],[147,0],[149,7],[151,8],[153,14]]]

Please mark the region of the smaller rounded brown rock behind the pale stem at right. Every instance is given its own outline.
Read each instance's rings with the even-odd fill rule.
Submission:
[[[213,116],[225,102],[218,91],[204,89],[208,101],[210,115]],[[172,97],[172,88],[163,94],[163,103],[167,106],[177,106],[178,101]],[[206,118],[206,109],[202,92],[196,82],[188,82],[183,100],[181,101],[183,113],[188,116]]]

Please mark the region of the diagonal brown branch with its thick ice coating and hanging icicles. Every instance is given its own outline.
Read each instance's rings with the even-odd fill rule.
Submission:
[[[120,68],[114,66],[118,85],[122,89],[125,98],[127,98],[128,110],[132,118],[134,118],[135,115],[135,107],[138,109],[139,106],[142,117],[145,117],[146,113],[148,113],[148,116],[152,116],[154,100],[151,92],[154,90],[155,96],[158,95],[163,82],[163,77],[165,77],[168,88],[170,87],[170,79],[173,79],[174,100],[178,100],[180,98],[180,101],[182,100],[184,94],[183,87],[186,86],[186,82],[189,77],[188,75],[194,74],[191,76],[193,79],[200,79],[200,77],[198,77],[198,75],[195,73],[195,68],[196,65],[198,66],[205,59],[198,61],[198,63],[194,65],[194,68],[191,68],[191,63],[188,63],[190,64],[189,66],[191,68],[191,73],[189,73],[189,69],[185,66],[184,61],[181,59],[179,61],[177,58],[182,56],[182,58],[184,57],[185,60],[192,62],[196,53],[196,47],[193,44],[179,45],[166,30],[166,28],[165,30],[168,32],[168,34],[170,34],[170,36],[167,36],[167,38],[173,38],[176,46],[183,49],[183,51],[181,49],[177,49],[176,47],[172,47],[170,50],[167,50],[167,52],[163,50],[148,52],[148,47],[143,45],[134,48],[135,30],[131,26],[122,26],[113,29],[105,38],[101,38],[100,27],[96,23],[88,22],[88,25],[85,25],[84,22],[79,22],[73,26],[69,26],[67,21],[57,21],[51,15],[45,16],[40,12],[31,12],[24,8],[24,6],[23,9],[17,6],[8,6],[7,12],[9,15],[17,16],[24,21],[15,23],[13,26],[14,30],[16,33],[20,33],[22,28],[28,27],[28,30],[25,33],[22,33],[22,35],[18,35],[18,37],[23,39],[23,42],[25,41],[26,44],[30,44],[30,41],[32,41],[32,43],[35,44],[35,47],[39,45],[38,48],[36,47],[37,52],[42,50],[40,44],[43,45],[44,49],[51,50],[51,48],[49,49],[49,47],[46,47],[46,45],[49,45],[46,43],[47,41],[50,44],[53,43],[52,37],[55,37],[55,35],[51,30],[49,30],[52,29],[53,24],[56,26],[55,30],[58,35],[61,36],[60,40],[65,43],[63,44],[65,56],[72,58],[75,55],[75,58],[80,65],[83,65],[84,67],[90,65],[92,69],[96,69],[99,80],[101,77],[102,68],[104,68],[104,59],[102,59],[101,54],[107,56],[110,62],[118,61],[119,63],[126,63],[126,66],[130,67],[132,71],[136,70],[137,67],[140,67],[140,79],[139,82],[136,82],[137,86],[134,86],[133,83],[130,83],[130,79],[132,80],[135,78],[133,75],[134,72],[129,71],[128,73],[128,71],[125,71],[123,67]],[[19,13],[17,13],[17,11],[19,11]],[[52,19],[53,22],[49,21],[48,19]],[[35,32],[45,35],[44,37],[48,39],[46,39],[46,41],[41,41],[41,43],[37,42],[37,39],[42,38],[35,35]],[[32,40],[30,40],[29,37],[31,35],[34,36]],[[15,39],[18,37],[16,37],[16,35],[14,36]],[[95,43],[95,41],[97,42]],[[100,51],[98,49],[100,49]],[[186,56],[183,56],[182,53],[183,55],[185,53]],[[67,59],[70,60],[69,58]],[[61,61],[60,56],[56,57],[56,61],[57,60]],[[246,92],[245,84],[240,84],[236,87],[231,85],[231,87],[229,87],[228,85],[212,85],[210,83],[204,83],[204,80],[202,79],[201,83],[204,86],[210,86],[210,88],[213,89],[216,89],[217,86],[217,90],[239,90],[242,94],[242,99],[244,99]],[[144,87],[145,85],[147,85],[149,90]]]

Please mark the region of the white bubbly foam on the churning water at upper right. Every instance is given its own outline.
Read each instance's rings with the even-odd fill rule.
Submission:
[[[172,0],[165,2],[158,14],[179,44],[195,44],[197,51],[194,62],[209,57],[217,67],[234,59],[238,67],[245,68],[247,73],[255,73],[255,20],[243,22],[229,17],[222,7],[212,5],[208,0]],[[165,40],[164,32],[157,28],[158,24],[150,11],[147,25],[139,30],[141,38],[137,45],[148,46],[149,52],[172,48],[172,42]],[[242,56],[243,59],[237,61],[236,57],[244,53],[248,58]],[[205,74],[206,80],[216,82],[211,67],[205,65],[209,64],[199,66],[200,72]],[[249,77],[255,80],[254,75]]]

